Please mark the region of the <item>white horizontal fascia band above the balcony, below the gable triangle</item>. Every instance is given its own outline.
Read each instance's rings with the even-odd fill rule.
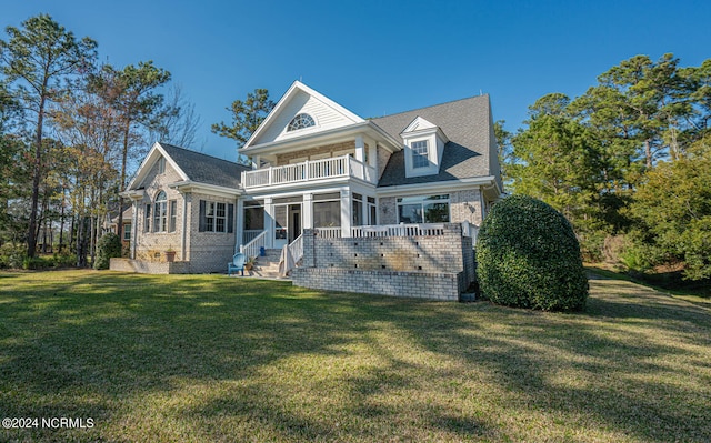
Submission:
[[[359,134],[367,134],[368,137],[375,139],[375,141],[388,142],[389,144],[391,144],[389,148],[392,151],[401,150],[403,148],[401,142],[394,140],[382,129],[378,128],[378,125],[373,124],[370,121],[362,121],[360,123],[354,123],[344,128],[334,128],[327,131],[304,134],[302,137],[289,140],[279,140],[250,148],[242,148],[240,150],[240,153],[244,155],[268,155],[274,153],[287,153],[308,148],[316,148],[324,143],[332,143]]]

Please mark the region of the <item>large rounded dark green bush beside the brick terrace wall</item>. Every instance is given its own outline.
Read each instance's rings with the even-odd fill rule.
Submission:
[[[540,200],[512,195],[494,204],[477,242],[484,298],[508,306],[580,310],[588,298],[580,244],[571,224]]]

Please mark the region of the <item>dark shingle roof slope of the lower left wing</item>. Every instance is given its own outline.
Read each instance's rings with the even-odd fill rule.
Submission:
[[[160,143],[168,155],[188,178],[194,182],[217,184],[226,188],[239,188],[242,171],[250,171],[251,168],[238,164],[229,160],[190,151],[172,144]]]

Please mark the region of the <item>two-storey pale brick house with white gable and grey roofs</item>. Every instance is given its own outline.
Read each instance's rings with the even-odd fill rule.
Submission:
[[[251,169],[153,145],[123,192],[131,269],[224,272],[236,251],[299,245],[304,230],[332,239],[423,223],[467,230],[502,193],[488,95],[364,119],[296,81],[240,152]],[[177,261],[160,264],[169,248]]]

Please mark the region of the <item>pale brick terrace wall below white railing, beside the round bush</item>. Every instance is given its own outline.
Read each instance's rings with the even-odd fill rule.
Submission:
[[[458,300],[474,280],[471,239],[448,223],[443,235],[322,239],[304,230],[298,286]]]

